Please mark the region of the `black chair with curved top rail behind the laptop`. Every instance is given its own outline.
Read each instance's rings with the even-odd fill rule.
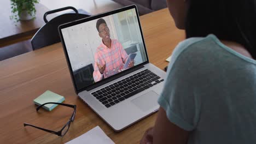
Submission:
[[[72,9],[75,11],[75,13],[68,13],[68,14],[62,14],[62,15],[56,16],[53,19],[51,19],[49,22],[46,19],[46,16],[49,14],[57,13],[59,11],[67,10],[67,9]],[[79,14],[78,10],[73,7],[65,7],[65,8],[47,11],[44,14],[45,25],[41,27],[31,39],[33,50],[37,50],[48,45],[59,43],[61,40],[58,32],[58,27],[61,24],[83,19],[89,16],[90,15]]]

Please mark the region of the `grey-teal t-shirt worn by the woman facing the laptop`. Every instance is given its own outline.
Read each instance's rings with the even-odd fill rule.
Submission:
[[[158,103],[188,143],[256,143],[256,61],[212,34],[184,40]]]

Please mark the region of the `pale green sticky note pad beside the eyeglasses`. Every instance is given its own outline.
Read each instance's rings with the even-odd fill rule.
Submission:
[[[43,94],[39,95],[36,99],[34,99],[34,104],[36,105],[42,105],[44,103],[54,102],[54,103],[62,103],[65,100],[65,98],[59,94],[56,94],[51,91],[46,91]],[[51,111],[56,107],[56,104],[47,104],[44,105],[44,109]]]

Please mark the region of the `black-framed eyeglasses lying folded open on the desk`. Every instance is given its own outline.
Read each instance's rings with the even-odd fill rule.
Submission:
[[[40,128],[40,127],[37,127],[37,126],[34,126],[32,124],[28,124],[28,123],[24,123],[24,127],[26,126],[31,126],[31,127],[34,127],[34,128],[37,128],[37,129],[40,129],[40,130],[44,130],[44,131],[47,131],[49,133],[52,133],[52,134],[55,134],[55,135],[58,135],[58,136],[63,136],[67,133],[68,129],[69,129],[69,126],[70,126],[70,123],[71,122],[74,122],[74,118],[75,118],[75,112],[77,111],[77,106],[76,105],[69,105],[69,104],[62,104],[62,103],[45,103],[45,104],[42,104],[42,105],[39,105],[37,107],[37,111],[44,105],[46,104],[57,104],[57,105],[63,105],[63,106],[68,106],[68,107],[72,107],[74,108],[74,112],[71,116],[71,118],[69,118],[68,122],[64,125],[64,127],[60,130],[60,131],[53,131],[53,130],[49,130],[49,129],[44,129],[44,128]]]

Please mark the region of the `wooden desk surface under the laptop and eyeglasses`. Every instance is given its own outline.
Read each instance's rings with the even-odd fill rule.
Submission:
[[[174,47],[184,39],[167,9],[141,17],[149,60],[163,69]],[[115,143],[139,143],[144,131],[152,127],[156,114],[115,133],[73,90],[71,77],[60,43],[0,62],[0,143],[65,143],[99,125]],[[71,117],[72,109],[57,106],[53,111],[36,112],[33,99],[46,90],[63,95],[67,104],[77,105],[75,121],[68,133],[59,137],[32,127],[31,123],[60,130]]]

